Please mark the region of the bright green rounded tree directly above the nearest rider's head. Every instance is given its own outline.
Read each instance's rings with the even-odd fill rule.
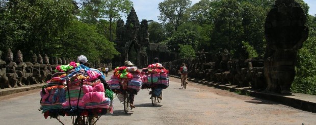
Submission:
[[[113,59],[119,53],[115,43],[97,32],[96,26],[74,20],[65,34],[55,44],[55,53],[76,57],[84,54],[89,61]],[[101,58],[100,58],[101,57]]]

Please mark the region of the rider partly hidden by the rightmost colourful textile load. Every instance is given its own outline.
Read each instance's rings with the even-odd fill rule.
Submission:
[[[163,68],[163,69],[165,69],[165,67],[159,63],[159,58],[157,58],[157,57],[153,59],[153,64],[149,65],[148,68],[151,68],[151,69]],[[162,96],[159,96],[163,89],[164,89],[164,87],[162,85],[157,85],[157,86],[151,88],[151,94],[154,94],[158,98],[163,99]]]

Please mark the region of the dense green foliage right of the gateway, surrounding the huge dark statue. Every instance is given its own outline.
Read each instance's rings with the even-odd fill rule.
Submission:
[[[316,68],[313,48],[316,45],[316,15],[308,15],[309,7],[303,0],[296,1],[308,17],[309,38],[298,53],[297,75],[292,91],[316,94],[316,76],[313,73]],[[195,53],[202,49],[209,53],[227,49],[232,58],[238,58],[244,49],[249,53],[249,58],[264,55],[264,24],[275,0],[201,0],[192,6],[188,6],[190,1],[179,2],[165,0],[159,4],[159,19],[163,21],[161,24],[167,39],[160,39],[159,35],[154,34],[157,37],[150,36],[151,42],[168,45],[169,51],[178,53],[179,58],[189,56],[184,51],[189,50],[187,45],[191,45]]]

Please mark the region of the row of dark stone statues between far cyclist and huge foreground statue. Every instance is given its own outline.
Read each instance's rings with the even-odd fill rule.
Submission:
[[[205,56],[207,53],[201,55]],[[174,60],[162,63],[170,69],[170,74],[178,75],[182,63],[188,67],[188,77],[213,83],[237,85],[238,87],[251,86],[253,89],[265,89],[267,84],[264,77],[264,60],[255,58],[230,58],[229,53],[209,55],[209,62],[204,59],[192,58]],[[199,57],[199,56],[197,56]]]

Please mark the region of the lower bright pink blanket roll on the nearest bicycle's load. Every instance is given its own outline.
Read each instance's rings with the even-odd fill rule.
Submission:
[[[106,101],[106,96],[104,92],[88,92],[82,98],[83,103],[90,103],[90,102],[101,103],[103,101]]]

